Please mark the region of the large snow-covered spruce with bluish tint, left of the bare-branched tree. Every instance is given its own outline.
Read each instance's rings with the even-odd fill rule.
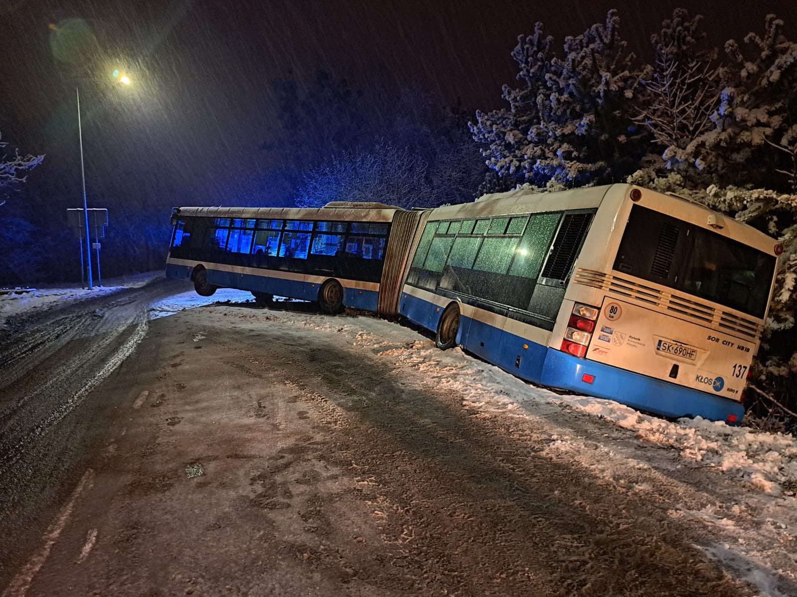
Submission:
[[[512,57],[523,85],[504,87],[508,110],[479,111],[470,123],[498,180],[578,186],[621,180],[638,167],[646,137],[631,119],[639,73],[619,29],[611,10],[605,22],[567,37],[561,55],[541,23],[519,37]]]

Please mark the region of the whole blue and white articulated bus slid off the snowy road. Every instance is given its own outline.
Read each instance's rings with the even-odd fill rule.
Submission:
[[[269,244],[257,232],[277,231],[261,224],[272,219],[282,237]],[[728,423],[744,416],[783,252],[746,224],[634,185],[518,189],[416,211],[183,208],[173,220],[167,275],[201,294],[225,286],[326,312],[398,312],[439,348],[461,345],[524,380]]]

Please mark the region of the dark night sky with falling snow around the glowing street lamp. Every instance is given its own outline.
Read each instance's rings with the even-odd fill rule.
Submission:
[[[309,78],[324,68],[380,97],[421,88],[441,103],[491,109],[501,106],[501,85],[514,82],[509,53],[517,34],[536,21],[559,42],[614,7],[632,49],[648,56],[650,33],[676,6],[705,14],[720,47],[760,31],[768,12],[797,24],[793,0],[6,0],[0,131],[47,154],[31,178],[61,176],[64,192],[77,193],[73,91],[64,80],[68,68],[50,50],[48,24],[84,18],[97,38],[92,76],[123,63],[134,79],[130,88],[103,92],[82,84],[89,200],[135,188],[166,195],[164,205],[231,205],[235,181],[264,165],[258,146],[274,127],[269,80],[291,69]]]

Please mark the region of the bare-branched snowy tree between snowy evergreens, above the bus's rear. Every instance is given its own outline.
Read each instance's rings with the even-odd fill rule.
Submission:
[[[655,64],[643,69],[644,91],[637,94],[636,122],[647,127],[664,150],[667,170],[685,170],[696,162],[697,139],[715,124],[712,116],[720,101],[717,49],[705,45],[703,17],[689,18],[685,9],[673,11],[660,33],[650,37]],[[691,173],[697,174],[697,173]]]

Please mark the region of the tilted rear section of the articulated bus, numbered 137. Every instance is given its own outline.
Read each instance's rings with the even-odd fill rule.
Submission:
[[[519,189],[426,214],[399,312],[524,380],[736,423],[781,252],[632,185]]]

